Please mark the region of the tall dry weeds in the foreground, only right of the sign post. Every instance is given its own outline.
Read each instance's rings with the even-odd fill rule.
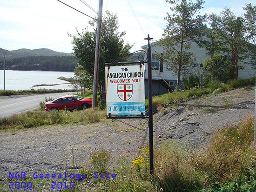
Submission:
[[[154,184],[163,191],[255,191],[253,139],[254,119],[248,118],[216,132],[199,152],[188,154],[173,141],[164,143],[155,152]]]

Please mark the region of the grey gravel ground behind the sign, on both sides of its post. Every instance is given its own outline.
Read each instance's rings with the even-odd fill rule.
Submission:
[[[154,115],[155,147],[175,139],[189,148],[202,148],[210,135],[223,126],[236,125],[254,114],[255,87],[202,96]],[[138,120],[125,120],[134,126]],[[140,128],[142,128],[140,126]],[[103,119],[93,124],[42,126],[25,131],[0,132],[0,180],[9,172],[61,173],[88,165],[90,152],[109,149],[113,165],[120,156],[135,159],[148,144],[148,129],[141,131],[118,121]],[[74,152],[74,161],[72,151]]]

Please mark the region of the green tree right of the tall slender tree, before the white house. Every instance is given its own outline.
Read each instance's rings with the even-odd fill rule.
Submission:
[[[230,8],[225,7],[219,15],[212,13],[210,19],[212,21],[211,38],[216,47],[215,52],[228,57],[234,71],[234,78],[237,79],[238,70],[243,69],[243,66],[238,63],[248,57],[244,18],[236,17]]]

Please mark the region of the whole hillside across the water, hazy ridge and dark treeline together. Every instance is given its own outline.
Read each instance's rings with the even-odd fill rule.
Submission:
[[[71,53],[60,53],[50,49],[18,49],[8,51],[0,48],[0,69],[3,69],[4,52],[6,52],[6,69],[74,71],[78,59]]]

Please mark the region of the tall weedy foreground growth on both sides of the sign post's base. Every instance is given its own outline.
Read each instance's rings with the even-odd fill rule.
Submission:
[[[87,189],[97,192],[117,189],[131,192],[252,192],[256,190],[256,149],[250,148],[253,138],[254,119],[248,117],[238,126],[216,132],[205,150],[185,152],[174,141],[163,142],[154,152],[152,176],[149,175],[148,147],[142,147],[137,158],[120,158],[117,166],[107,168],[110,174],[116,173],[116,179],[90,177],[88,181],[94,186]],[[81,168],[83,172],[85,169]]]

